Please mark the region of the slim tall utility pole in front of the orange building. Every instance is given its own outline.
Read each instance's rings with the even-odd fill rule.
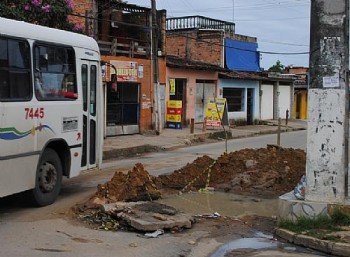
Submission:
[[[152,9],[152,63],[153,63],[153,85],[154,85],[154,119],[155,130],[161,132],[161,111],[160,111],[160,94],[159,94],[159,64],[158,64],[158,22],[156,0],[151,0]]]

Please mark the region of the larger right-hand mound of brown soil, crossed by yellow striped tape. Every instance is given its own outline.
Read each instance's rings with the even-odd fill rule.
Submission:
[[[277,196],[293,190],[305,174],[305,162],[303,150],[243,149],[217,160],[197,158],[172,174],[159,176],[157,184],[182,192],[213,187],[224,192]]]

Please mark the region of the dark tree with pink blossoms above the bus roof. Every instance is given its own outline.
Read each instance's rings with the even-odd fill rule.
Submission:
[[[47,27],[81,32],[69,21],[74,0],[1,0],[0,16]]]

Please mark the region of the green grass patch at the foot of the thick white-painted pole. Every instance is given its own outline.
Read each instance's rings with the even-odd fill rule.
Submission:
[[[341,226],[350,225],[350,215],[341,209],[334,209],[330,215],[320,215],[315,218],[299,217],[296,221],[281,220],[280,228],[316,237],[322,240],[340,241],[340,237],[333,232],[341,231]]]

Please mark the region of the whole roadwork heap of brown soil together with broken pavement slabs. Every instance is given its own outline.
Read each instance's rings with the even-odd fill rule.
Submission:
[[[303,150],[269,146],[243,149],[209,156],[171,174],[153,177],[141,163],[127,174],[116,172],[112,179],[98,185],[97,192],[76,213],[82,221],[101,230],[128,229],[149,232],[181,231],[191,228],[194,218],[219,219],[217,212],[191,217],[175,208],[154,202],[163,195],[190,191],[224,191],[259,197],[276,197],[292,191],[305,174]]]

